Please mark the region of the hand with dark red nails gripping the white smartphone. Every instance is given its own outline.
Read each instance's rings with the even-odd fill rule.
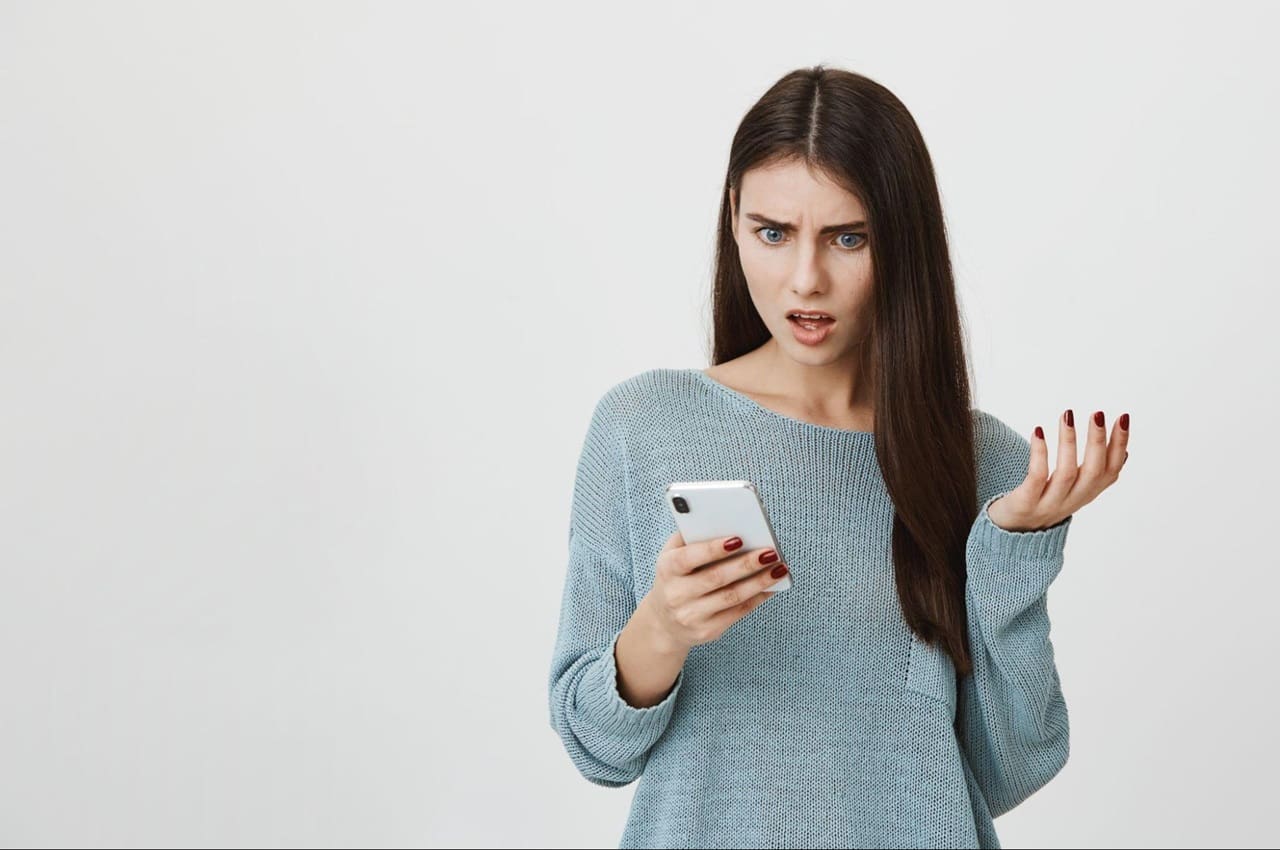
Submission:
[[[772,597],[764,589],[786,575],[787,567],[777,561],[773,549],[733,554],[724,548],[731,539],[686,544],[676,531],[658,553],[653,589],[644,602],[677,650],[687,652],[719,638]],[[762,561],[767,553],[773,553],[772,559]]]

